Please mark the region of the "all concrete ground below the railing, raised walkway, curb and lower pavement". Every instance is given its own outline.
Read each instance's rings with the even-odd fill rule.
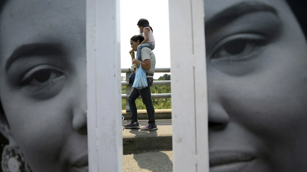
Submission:
[[[129,122],[130,114],[123,112]],[[146,110],[138,110],[139,119],[148,119]],[[171,109],[156,110],[157,130],[141,131],[140,129],[125,129],[122,127],[123,137],[123,171],[124,172],[173,172],[172,151],[172,120]],[[142,126],[148,120],[139,120]]]

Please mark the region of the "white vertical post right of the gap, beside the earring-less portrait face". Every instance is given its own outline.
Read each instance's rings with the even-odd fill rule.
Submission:
[[[169,0],[174,171],[209,171],[204,0]]]

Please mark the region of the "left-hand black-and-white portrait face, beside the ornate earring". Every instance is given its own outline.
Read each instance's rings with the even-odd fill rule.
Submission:
[[[88,171],[85,1],[10,0],[0,17],[10,144],[33,172]]]

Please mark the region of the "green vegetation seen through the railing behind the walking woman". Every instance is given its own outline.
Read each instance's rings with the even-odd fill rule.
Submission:
[[[170,75],[165,74],[157,80],[170,80]],[[169,85],[151,86],[150,90],[152,94],[171,93],[171,87]],[[126,94],[126,86],[122,86],[122,94]],[[152,100],[155,109],[171,109],[171,98],[153,98]],[[138,109],[146,109],[145,105],[142,102],[142,98],[138,98],[135,101],[135,104]],[[122,110],[124,109],[126,109],[126,99],[122,99]]]

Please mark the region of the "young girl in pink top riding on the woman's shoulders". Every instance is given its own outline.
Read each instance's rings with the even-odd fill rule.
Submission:
[[[140,28],[140,35],[145,38],[137,48],[136,58],[140,59],[141,49],[143,47],[148,47],[153,50],[155,47],[155,41],[153,37],[153,29],[150,27],[148,20],[141,18],[138,21],[138,28]]]

